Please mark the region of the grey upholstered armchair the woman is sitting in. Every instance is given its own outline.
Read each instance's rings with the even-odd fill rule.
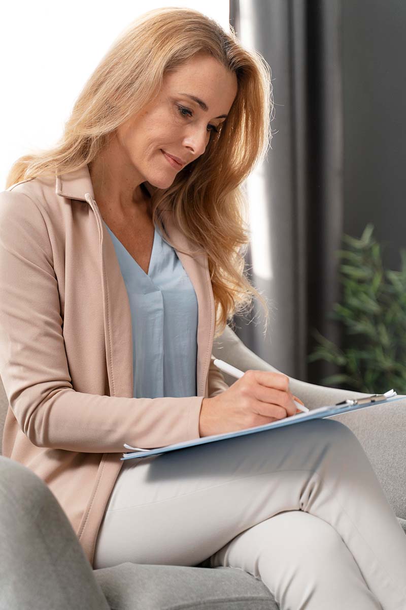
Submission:
[[[226,327],[213,353],[241,370],[271,370]],[[231,385],[235,379],[225,375]],[[290,389],[310,408],[360,396],[297,379]],[[396,389],[396,388],[395,388]],[[7,397],[0,384],[0,431]],[[406,399],[335,415],[360,440],[406,533]],[[2,434],[0,435],[1,439]],[[278,610],[270,591],[242,570],[125,562],[92,570],[48,487],[28,468],[0,457],[0,610]],[[23,586],[23,583],[30,586]]]

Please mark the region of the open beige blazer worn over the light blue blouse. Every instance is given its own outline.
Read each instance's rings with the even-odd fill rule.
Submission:
[[[194,249],[168,213],[164,228]],[[88,166],[0,193],[3,454],[51,489],[91,565],[124,443],[198,438],[203,397],[228,387],[212,364],[208,257],[177,255],[198,301],[197,397],[133,398],[130,304]]]

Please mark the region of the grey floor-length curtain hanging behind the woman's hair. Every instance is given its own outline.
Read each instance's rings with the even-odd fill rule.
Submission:
[[[230,23],[271,68],[273,138],[247,179],[247,268],[271,309],[267,336],[257,301],[234,317],[245,345],[287,375],[320,382],[335,371],[307,364],[312,329],[339,345],[327,312],[340,298],[343,109],[340,4],[336,0],[230,0]]]

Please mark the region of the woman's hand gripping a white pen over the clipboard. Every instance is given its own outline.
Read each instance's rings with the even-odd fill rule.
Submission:
[[[287,375],[248,370],[221,394],[203,398],[199,435],[236,432],[295,415],[294,399]]]

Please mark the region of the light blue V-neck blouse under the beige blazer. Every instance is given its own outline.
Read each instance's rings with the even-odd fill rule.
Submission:
[[[197,297],[155,226],[148,274],[110,227],[131,309],[135,398],[196,396]]]

